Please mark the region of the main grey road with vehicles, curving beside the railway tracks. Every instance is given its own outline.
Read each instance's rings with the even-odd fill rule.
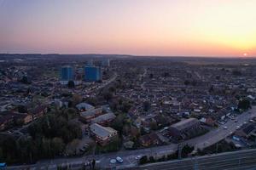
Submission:
[[[251,113],[249,113],[251,112]],[[236,126],[241,125],[243,122],[248,122],[253,116],[256,116],[256,107],[253,107],[252,110],[247,111],[236,117],[238,122],[234,122],[233,120],[229,120],[226,122],[224,126],[228,127],[228,129],[224,129],[223,127],[218,127],[213,129],[209,133],[206,133],[200,137],[195,139],[189,139],[184,143],[188,143],[194,145],[195,148],[203,149],[211,144],[215,144],[218,141],[226,138],[230,135],[230,131],[235,132]],[[96,159],[100,161],[99,166],[102,167],[134,167],[137,166],[136,156],[163,156],[170,153],[173,153],[177,150],[177,144],[169,144],[164,146],[158,146],[153,148],[141,149],[141,150],[124,150],[118,151],[108,154],[96,155],[96,156],[83,156],[78,158],[60,158],[54,160],[45,160],[38,161],[34,165],[28,166],[17,166],[17,167],[9,167],[8,169],[22,169],[26,167],[37,167],[38,169],[46,169],[46,167],[56,167],[61,164],[82,164],[84,161],[88,161],[91,159]],[[124,160],[122,164],[111,164],[109,161],[116,156],[121,156]],[[50,168],[49,168],[50,169]]]

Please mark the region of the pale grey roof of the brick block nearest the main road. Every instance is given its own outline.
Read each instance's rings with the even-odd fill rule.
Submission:
[[[101,138],[108,137],[111,133],[117,133],[116,130],[114,130],[112,127],[102,127],[101,125],[97,123],[93,123],[90,125],[90,130],[96,134],[96,136],[99,136]]]

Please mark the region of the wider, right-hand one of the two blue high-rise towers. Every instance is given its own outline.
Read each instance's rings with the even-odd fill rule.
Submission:
[[[85,82],[96,82],[102,80],[102,69],[98,66],[85,66],[84,67],[84,80]]]

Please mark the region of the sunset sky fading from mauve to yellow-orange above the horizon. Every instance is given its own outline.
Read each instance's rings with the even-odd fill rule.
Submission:
[[[256,56],[256,0],[0,0],[0,53]]]

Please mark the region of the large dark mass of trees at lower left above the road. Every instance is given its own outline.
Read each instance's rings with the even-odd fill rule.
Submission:
[[[0,161],[32,163],[63,155],[69,142],[82,138],[81,128],[71,120],[72,114],[70,109],[50,112],[27,127],[26,135],[1,136]]]

